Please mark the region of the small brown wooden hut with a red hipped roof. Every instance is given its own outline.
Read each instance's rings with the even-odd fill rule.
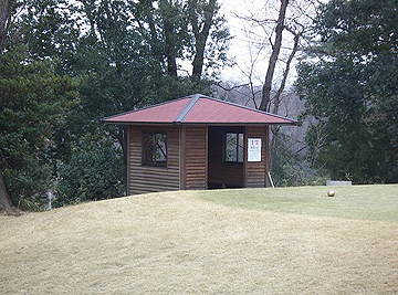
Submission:
[[[270,126],[295,124],[201,94],[103,122],[128,126],[128,194],[266,187]]]

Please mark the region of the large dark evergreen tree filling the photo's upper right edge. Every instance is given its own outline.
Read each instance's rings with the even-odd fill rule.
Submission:
[[[321,7],[315,33],[322,55],[301,63],[297,89],[304,115],[313,118],[307,141],[314,165],[333,178],[398,181],[397,12],[395,0]]]

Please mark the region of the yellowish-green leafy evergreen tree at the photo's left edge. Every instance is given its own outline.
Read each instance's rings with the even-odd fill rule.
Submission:
[[[15,204],[35,209],[51,189],[53,135],[76,103],[76,83],[23,48],[0,55],[0,167]]]

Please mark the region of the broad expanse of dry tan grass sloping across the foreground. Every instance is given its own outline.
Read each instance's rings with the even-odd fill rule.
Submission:
[[[237,209],[193,196],[0,217],[0,293],[398,293],[398,223]]]

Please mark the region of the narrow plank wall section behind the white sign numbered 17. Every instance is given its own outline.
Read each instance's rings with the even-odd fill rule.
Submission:
[[[245,187],[247,188],[264,188],[268,183],[268,162],[269,162],[269,127],[247,127],[248,138],[261,138],[261,161],[245,162]]]

